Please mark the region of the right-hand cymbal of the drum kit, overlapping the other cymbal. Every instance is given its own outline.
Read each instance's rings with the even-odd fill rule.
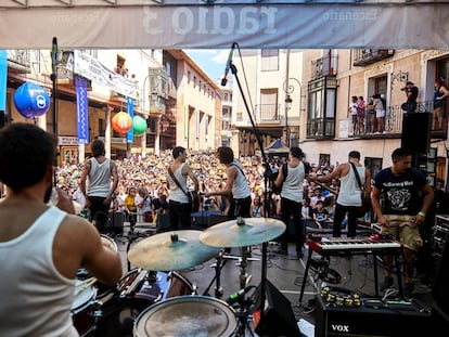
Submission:
[[[239,218],[215,224],[200,235],[200,241],[213,247],[258,245],[281,235],[285,224],[270,218]]]

